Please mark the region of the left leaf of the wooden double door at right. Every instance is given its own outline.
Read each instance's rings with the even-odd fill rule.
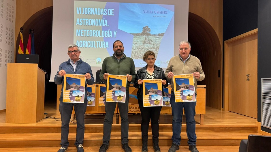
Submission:
[[[229,111],[246,115],[246,38],[229,44]]]

